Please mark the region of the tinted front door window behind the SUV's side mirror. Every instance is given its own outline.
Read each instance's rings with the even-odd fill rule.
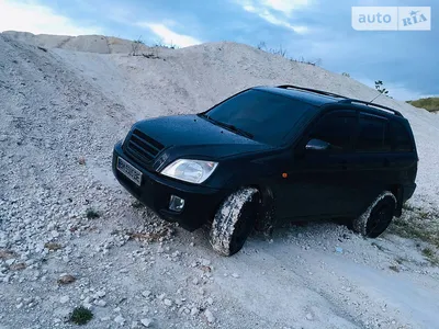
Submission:
[[[329,143],[338,149],[349,149],[356,129],[357,120],[353,113],[330,113],[318,122],[311,138]]]

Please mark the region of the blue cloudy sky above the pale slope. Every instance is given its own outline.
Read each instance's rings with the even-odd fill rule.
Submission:
[[[357,31],[352,7],[430,7],[430,31]],[[398,100],[439,95],[439,0],[0,0],[0,32],[282,49]],[[437,19],[438,18],[438,19]],[[438,21],[439,22],[439,21]]]

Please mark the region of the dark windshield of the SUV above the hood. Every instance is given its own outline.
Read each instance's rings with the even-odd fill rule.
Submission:
[[[286,135],[312,105],[271,92],[248,90],[216,105],[206,114],[237,134],[281,146]]]

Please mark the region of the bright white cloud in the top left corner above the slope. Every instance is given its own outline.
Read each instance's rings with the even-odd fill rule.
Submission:
[[[83,35],[102,34],[95,26],[80,26],[50,8],[32,2],[0,0],[0,32],[23,31],[34,34]]]

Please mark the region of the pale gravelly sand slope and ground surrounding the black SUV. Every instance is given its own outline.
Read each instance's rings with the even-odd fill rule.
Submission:
[[[243,252],[222,258],[205,231],[185,232],[131,206],[111,173],[113,144],[142,117],[198,112],[255,84],[363,100],[374,90],[234,43],[159,48],[151,59],[98,54],[115,53],[90,46],[100,36],[61,48],[58,37],[44,36],[38,43],[48,52],[32,36],[12,36],[33,45],[0,34],[0,250],[16,253],[0,258],[0,328],[68,328],[64,316],[79,304],[93,310],[89,328],[140,328],[142,319],[154,328],[437,326],[439,271],[420,254],[423,242],[313,224],[281,229],[273,240],[254,236]],[[376,101],[410,121],[420,157],[412,204],[437,209],[439,116]],[[86,218],[90,206],[100,218]],[[133,231],[162,238],[127,240]],[[49,241],[63,248],[48,251]],[[61,273],[78,281],[57,286]]]

